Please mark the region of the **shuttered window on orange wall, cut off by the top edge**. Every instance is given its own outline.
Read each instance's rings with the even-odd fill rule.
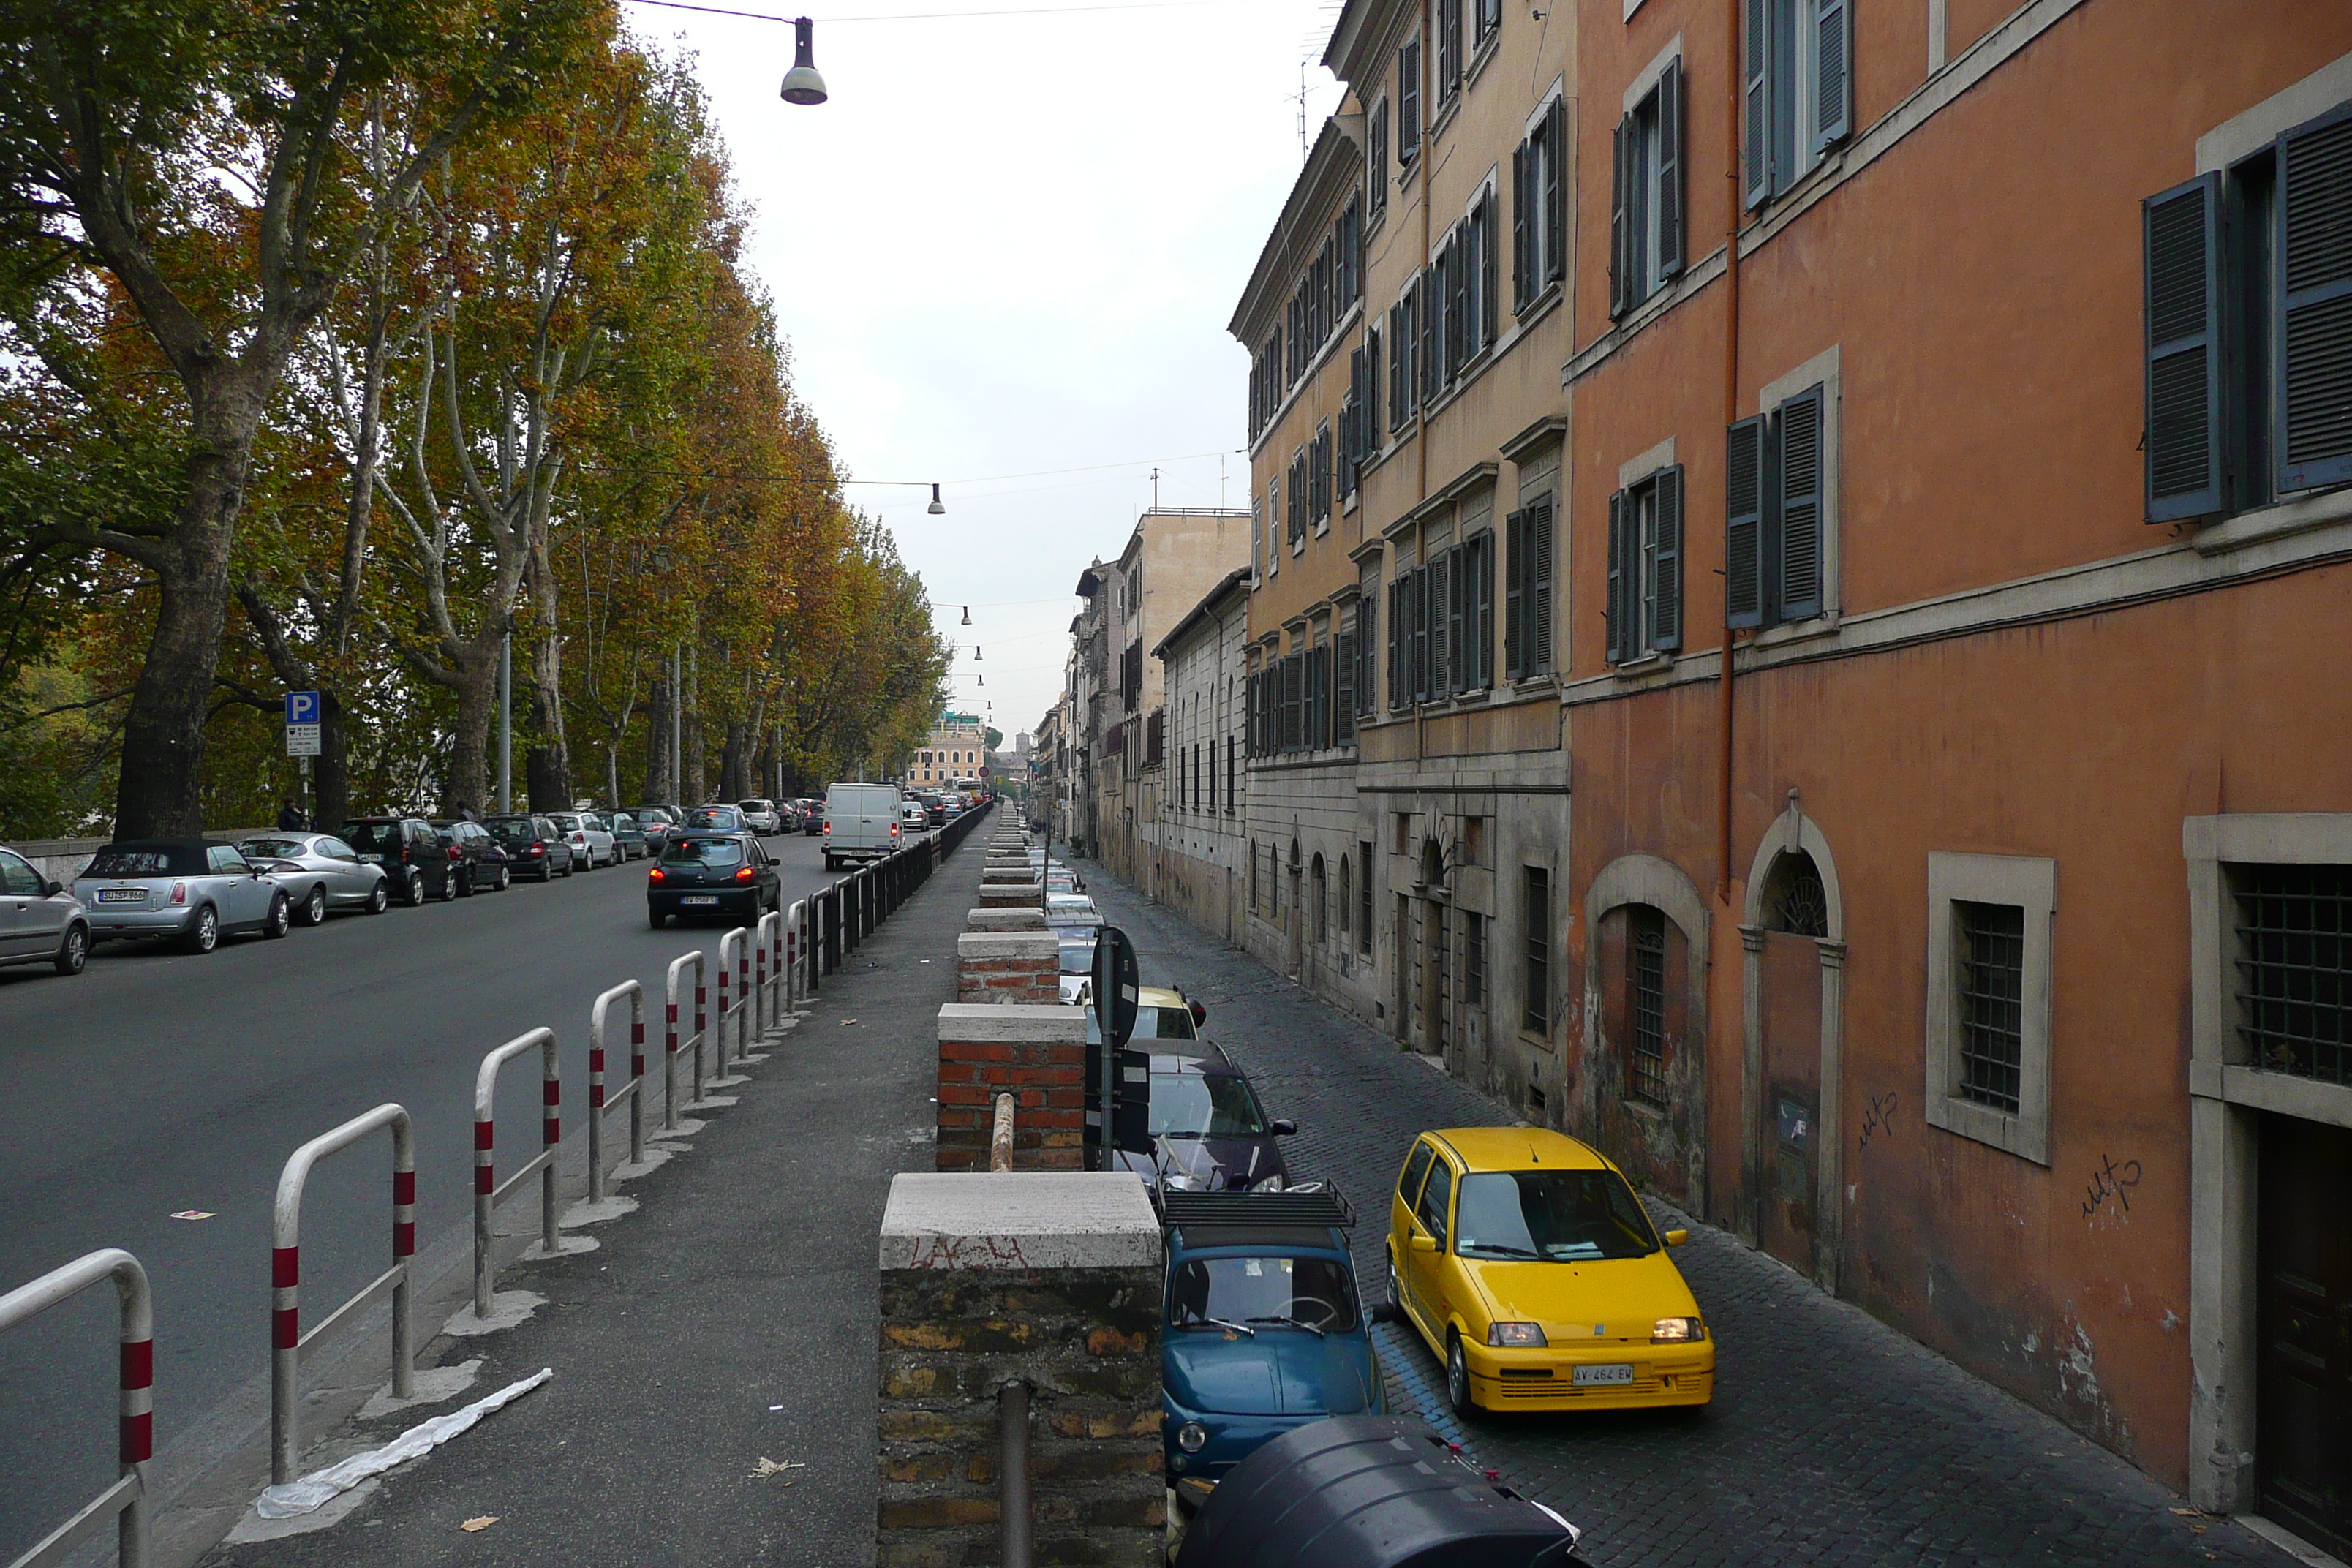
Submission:
[[[1853,129],[1853,0],[1745,0],[1745,193],[1795,186]]]

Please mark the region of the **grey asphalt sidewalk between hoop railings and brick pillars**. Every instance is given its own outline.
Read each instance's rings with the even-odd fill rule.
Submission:
[[[936,1016],[983,860],[950,856],[849,954],[691,1152],[626,1187],[642,1208],[597,1225],[597,1251],[501,1276],[548,1298],[532,1321],[423,1354],[487,1356],[468,1396],[553,1382],[341,1523],[207,1568],[870,1563],[875,1237],[891,1175],[931,1168]]]

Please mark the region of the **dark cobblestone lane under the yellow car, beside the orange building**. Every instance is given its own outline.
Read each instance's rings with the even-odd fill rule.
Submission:
[[[1298,1119],[1291,1168],[1341,1185],[1362,1215],[1357,1269],[1383,1279],[1383,1199],[1411,1135],[1515,1117],[1101,867],[1082,875],[1134,938],[1143,980],[1207,1004],[1207,1032],[1249,1070],[1268,1114]],[[1392,1408],[1430,1415],[1573,1519],[1599,1568],[2293,1561],[1731,1234],[1672,1222],[1691,1227],[1675,1260],[1717,1335],[1717,1394],[1700,1418],[1524,1413],[1461,1432],[1428,1347],[1376,1331]]]

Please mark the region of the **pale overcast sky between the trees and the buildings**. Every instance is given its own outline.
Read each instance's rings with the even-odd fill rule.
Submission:
[[[957,708],[1011,745],[1152,468],[1167,505],[1249,505],[1225,322],[1305,162],[1301,85],[1310,136],[1338,103],[1317,63],[1338,0],[809,5],[814,108],[776,96],[790,26],[623,12],[696,56],[795,390],[851,480],[908,482],[849,496],[957,642]]]

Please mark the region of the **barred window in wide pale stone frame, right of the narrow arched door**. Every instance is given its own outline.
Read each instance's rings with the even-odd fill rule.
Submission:
[[[2056,860],[1931,853],[1926,1121],[2049,1164]]]

